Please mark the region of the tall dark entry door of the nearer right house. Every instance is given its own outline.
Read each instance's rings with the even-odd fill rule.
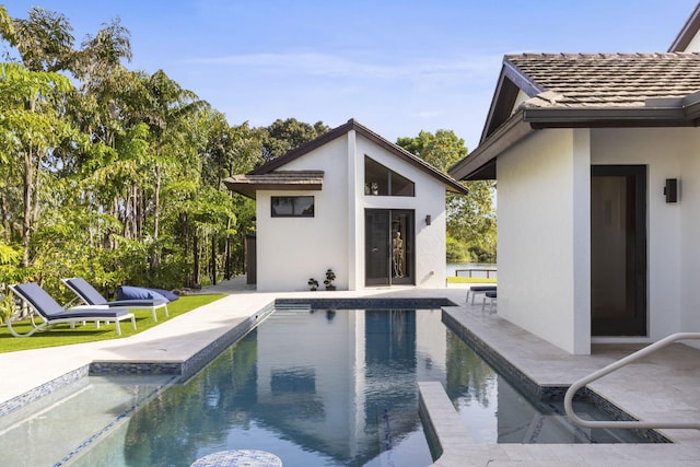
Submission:
[[[646,336],[646,166],[591,167],[591,334]]]

